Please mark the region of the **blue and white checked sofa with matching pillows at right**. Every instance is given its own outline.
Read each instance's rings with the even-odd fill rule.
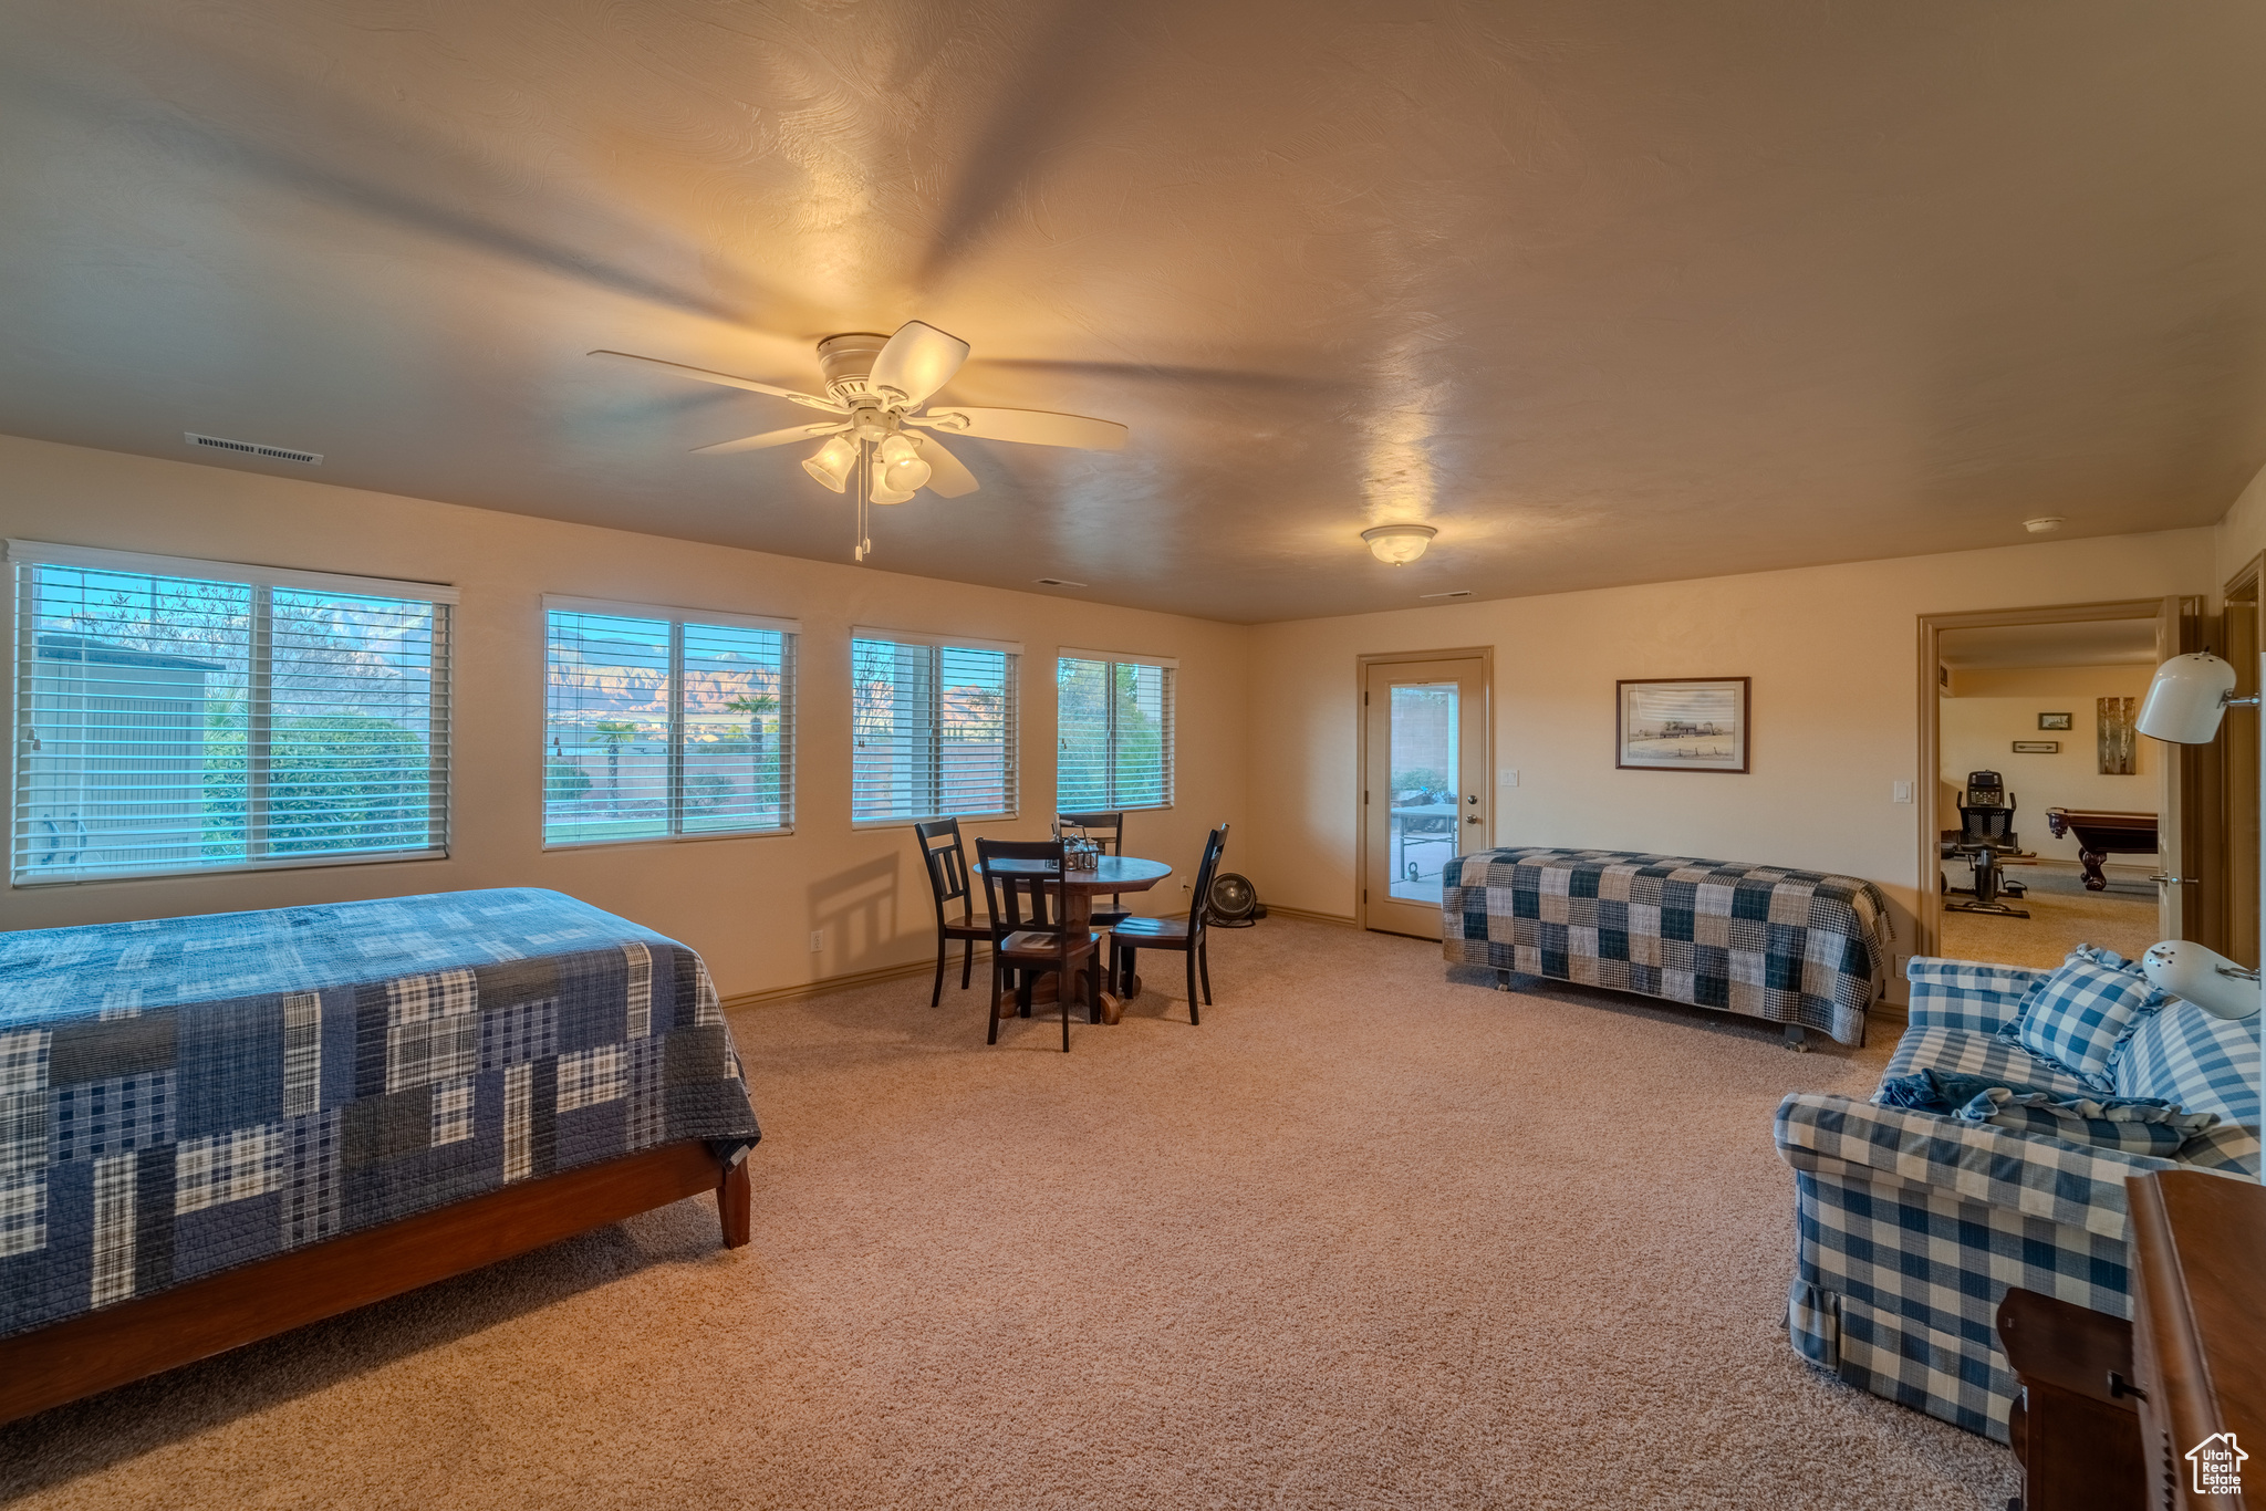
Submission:
[[[1933,1067],[2096,1094],[1999,1035],[2046,974],[1915,958],[1910,1026],[1888,1076]],[[2173,999],[2119,1047],[2114,1094],[2162,1096],[2248,1128],[2218,1130],[2212,1158],[2230,1178],[2257,1180],[2257,1019]],[[2123,1183],[2182,1167],[1824,1094],[1779,1105],[1777,1144],[1795,1169],[1795,1350],[2001,1443],[2014,1377],[1992,1323],[2008,1287],[2130,1316]]]

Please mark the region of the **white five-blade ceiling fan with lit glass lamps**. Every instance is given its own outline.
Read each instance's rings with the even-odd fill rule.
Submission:
[[[1079,451],[1119,451],[1126,444],[1124,426],[1110,419],[1088,419],[1085,415],[986,410],[965,403],[929,410],[929,396],[949,383],[952,374],[968,360],[968,342],[918,319],[897,326],[895,335],[852,331],[818,342],[818,372],[827,387],[825,399],[775,383],[734,378],[727,372],[630,356],[628,351],[591,351],[589,356],[610,362],[659,367],[680,378],[746,387],[755,394],[773,394],[825,410],[832,419],[698,446],[696,455],[730,455],[734,451],[766,451],[770,446],[825,439],[816,453],[802,460],[802,469],[836,494],[857,483],[859,562],[872,553],[872,541],[866,537],[868,503],[904,503],[922,487],[943,498],[977,492],[979,483],[974,473],[945,451],[945,444],[936,439],[938,435],[974,435],[988,442],[1074,446]]]

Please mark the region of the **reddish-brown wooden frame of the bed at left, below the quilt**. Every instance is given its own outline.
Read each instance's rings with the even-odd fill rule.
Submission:
[[[0,1423],[208,1359],[557,1239],[716,1192],[723,1246],[748,1241],[748,1151],[662,1144],[383,1228],[168,1287],[116,1307],[0,1339]]]

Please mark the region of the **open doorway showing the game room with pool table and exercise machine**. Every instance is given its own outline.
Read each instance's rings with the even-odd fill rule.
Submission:
[[[2218,782],[2132,729],[2155,666],[2205,637],[2191,598],[1922,618],[1922,954],[2216,942]]]

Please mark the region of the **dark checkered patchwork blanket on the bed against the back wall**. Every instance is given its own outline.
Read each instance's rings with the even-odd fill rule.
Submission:
[[[1441,868],[1457,965],[1609,985],[1865,1042],[1888,985],[1872,881],[1629,850],[1484,850]]]

